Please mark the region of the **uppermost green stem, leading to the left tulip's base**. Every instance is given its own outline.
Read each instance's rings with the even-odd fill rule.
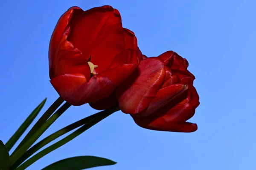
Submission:
[[[58,109],[58,107],[64,102],[64,100],[59,97],[48,109],[42,117],[35,123],[35,125],[32,127],[32,129],[29,131],[29,133],[25,136],[25,138],[20,142],[20,144],[17,146],[17,148],[14,150],[11,156],[13,156],[17,150],[22,147],[26,141],[31,138],[32,135],[47,121],[47,119],[52,115],[52,113]]]

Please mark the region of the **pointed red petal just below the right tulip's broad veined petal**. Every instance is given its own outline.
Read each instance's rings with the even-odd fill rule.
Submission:
[[[183,84],[175,84],[175,85],[171,85],[169,87],[160,89],[157,92],[156,97],[152,99],[148,108],[143,112],[134,114],[134,116],[146,116],[146,115],[151,115],[154,112],[157,112],[166,104],[174,101],[176,98],[182,95],[187,89],[188,89],[188,86]]]

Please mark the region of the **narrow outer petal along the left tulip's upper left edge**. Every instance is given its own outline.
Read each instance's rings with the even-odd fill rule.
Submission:
[[[49,69],[52,67],[52,63],[55,57],[55,51],[58,47],[58,43],[61,40],[61,37],[70,22],[72,17],[76,17],[78,14],[84,12],[81,8],[73,6],[65,12],[60,19],[58,20],[57,25],[52,33],[52,37],[49,44]]]

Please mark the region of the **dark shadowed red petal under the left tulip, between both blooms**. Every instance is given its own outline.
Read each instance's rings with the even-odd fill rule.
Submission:
[[[90,107],[96,110],[105,110],[110,109],[111,107],[118,106],[118,102],[116,100],[115,95],[111,95],[108,98],[103,98],[95,102],[89,103]]]

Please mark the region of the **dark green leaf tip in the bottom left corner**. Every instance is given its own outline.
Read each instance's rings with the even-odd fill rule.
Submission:
[[[0,170],[9,170],[10,157],[8,150],[6,149],[3,142],[0,140]]]

